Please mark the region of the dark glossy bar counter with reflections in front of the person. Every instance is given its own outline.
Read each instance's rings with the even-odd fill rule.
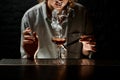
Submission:
[[[81,60],[56,59],[2,59],[0,61],[1,79],[10,80],[118,80],[120,66],[99,63],[82,65]],[[90,60],[94,62],[93,60]],[[115,62],[115,61],[114,61]]]

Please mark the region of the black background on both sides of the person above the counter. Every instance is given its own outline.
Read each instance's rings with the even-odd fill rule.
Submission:
[[[97,41],[96,59],[117,59],[119,53],[118,2],[113,0],[78,0],[92,13]],[[37,0],[0,1],[0,59],[20,58],[20,25],[24,12]]]

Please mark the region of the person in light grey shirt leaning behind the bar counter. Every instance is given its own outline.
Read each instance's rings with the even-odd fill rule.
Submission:
[[[74,0],[43,0],[39,4],[27,10],[21,23],[21,56],[22,58],[57,58],[57,48],[52,42],[53,28],[52,11],[56,9],[59,13],[62,10],[70,9],[68,24],[64,26],[66,32],[65,58],[82,59],[89,58],[90,51],[95,42],[82,41],[85,35],[93,35],[93,28],[86,8]]]

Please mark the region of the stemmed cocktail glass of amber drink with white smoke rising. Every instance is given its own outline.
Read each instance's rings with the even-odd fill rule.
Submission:
[[[63,27],[66,27],[68,23],[68,14],[63,10],[59,13],[58,10],[53,10],[52,12],[52,31],[53,37],[52,42],[57,45],[58,59],[60,63],[64,63],[62,59],[62,54],[66,53],[67,50],[64,47],[66,42],[66,30]],[[64,25],[64,26],[63,26]]]

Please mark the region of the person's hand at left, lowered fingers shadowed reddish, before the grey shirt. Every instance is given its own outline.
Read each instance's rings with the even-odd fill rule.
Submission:
[[[23,48],[27,54],[27,58],[34,58],[34,54],[38,49],[38,37],[30,27],[23,31]]]

